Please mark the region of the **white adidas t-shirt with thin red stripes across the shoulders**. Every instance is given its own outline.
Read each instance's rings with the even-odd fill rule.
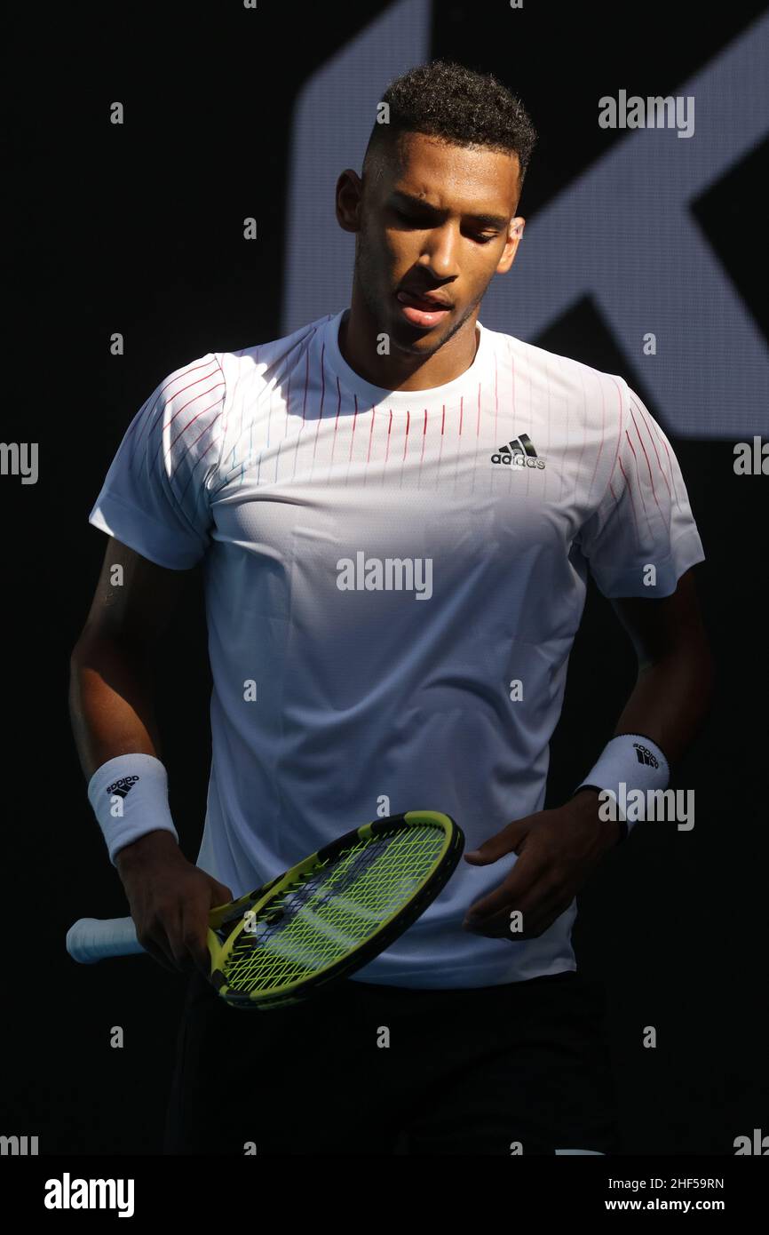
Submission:
[[[378,815],[442,810],[474,848],[541,810],[588,563],[607,597],[664,597],[704,558],[670,445],[621,377],[479,322],[460,377],[388,391],[343,361],[343,312],[167,377],[90,514],[160,566],[204,559],[197,863],[236,897]],[[462,929],[515,861],[460,860],[357,978],[574,969],[576,902],[538,939]]]

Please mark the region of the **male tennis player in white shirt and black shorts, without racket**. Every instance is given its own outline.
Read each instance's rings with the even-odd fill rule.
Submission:
[[[664,789],[704,716],[702,547],[623,378],[478,321],[525,226],[521,104],[442,62],[384,101],[360,178],[337,182],[349,308],[191,361],[126,432],[90,515],[112,538],[73,652],[78,748],[141,942],[193,969],[167,1152],[609,1153],[575,894],[633,826],[599,792]],[[146,662],[199,562],[212,764],[193,865]],[[639,674],[588,788],[543,810],[588,571]],[[414,808],[468,842],[423,916],[301,1007],[227,1008],[209,908]]]

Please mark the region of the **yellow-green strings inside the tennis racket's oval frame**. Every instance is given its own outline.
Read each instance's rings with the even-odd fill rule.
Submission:
[[[302,872],[241,931],[225,963],[227,984],[273,989],[333,965],[407,904],[444,839],[436,825],[397,827]]]

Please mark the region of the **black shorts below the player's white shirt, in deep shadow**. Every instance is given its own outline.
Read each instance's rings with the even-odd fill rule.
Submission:
[[[190,977],[165,1153],[564,1150],[620,1151],[594,979],[451,990],[346,979],[244,1011]]]

